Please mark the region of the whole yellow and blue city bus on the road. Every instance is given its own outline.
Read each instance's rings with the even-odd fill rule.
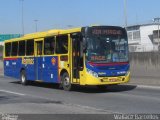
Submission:
[[[126,83],[130,79],[125,28],[90,26],[49,30],[6,40],[4,75],[29,81],[73,85]]]

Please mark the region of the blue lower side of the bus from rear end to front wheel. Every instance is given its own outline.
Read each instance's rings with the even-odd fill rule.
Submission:
[[[58,57],[25,57],[24,59],[33,59],[34,63],[22,64],[22,58],[4,59],[4,75],[20,78],[21,69],[25,69],[28,80],[59,83]],[[55,63],[53,63],[53,59]]]

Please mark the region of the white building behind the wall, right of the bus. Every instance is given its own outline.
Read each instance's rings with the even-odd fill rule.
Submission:
[[[127,27],[129,51],[160,51],[158,39],[158,23],[132,25]]]

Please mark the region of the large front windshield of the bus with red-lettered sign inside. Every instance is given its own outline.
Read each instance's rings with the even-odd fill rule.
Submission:
[[[96,63],[127,62],[127,38],[120,36],[88,37],[86,59]]]

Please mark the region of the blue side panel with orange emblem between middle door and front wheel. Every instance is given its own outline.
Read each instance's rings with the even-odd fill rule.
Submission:
[[[42,58],[42,78],[44,82],[59,83],[58,57],[47,56]]]

